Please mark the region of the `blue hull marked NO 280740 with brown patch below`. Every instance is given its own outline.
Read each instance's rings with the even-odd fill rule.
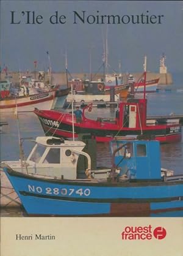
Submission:
[[[183,181],[92,183],[37,179],[4,168],[28,214],[151,216],[183,209]]]

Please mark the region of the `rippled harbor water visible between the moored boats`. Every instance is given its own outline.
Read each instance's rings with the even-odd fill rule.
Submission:
[[[148,116],[157,115],[183,115],[183,81],[182,75],[174,76],[174,84],[168,86],[165,91],[160,90],[148,94]],[[59,104],[59,102],[58,102]],[[65,110],[71,111],[71,110]],[[87,114],[90,118],[112,118],[115,116],[114,108],[94,108]],[[14,113],[1,113],[1,122],[8,122],[7,126],[2,127],[1,131],[1,161],[2,160],[18,160],[20,158],[19,151],[19,136],[21,138],[35,139],[38,136],[44,135],[40,121],[34,113],[21,112],[18,113],[19,122],[17,122]],[[20,135],[18,130],[20,130]],[[183,129],[182,129],[183,138]],[[182,139],[183,140],[183,139]],[[24,154],[27,156],[32,149],[32,143],[29,140],[24,140]],[[97,143],[97,164],[98,166],[111,167],[109,144]],[[174,174],[183,175],[183,141],[179,143],[170,143],[160,146],[161,164],[163,168],[174,170]],[[1,211],[1,216],[26,216],[23,209],[4,208]],[[168,216],[168,213],[163,213],[163,216]],[[171,216],[183,216],[183,212],[171,213]]]

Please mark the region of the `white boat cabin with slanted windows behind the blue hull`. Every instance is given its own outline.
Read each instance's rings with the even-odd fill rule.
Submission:
[[[26,163],[34,165],[35,173],[40,175],[76,179],[77,160],[80,154],[85,155],[85,152],[81,152],[84,147],[85,143],[82,141],[37,137]]]

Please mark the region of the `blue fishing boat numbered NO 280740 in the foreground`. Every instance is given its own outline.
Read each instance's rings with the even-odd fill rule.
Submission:
[[[44,165],[46,159],[51,163],[49,148],[57,151],[56,164],[51,163],[52,168],[60,164],[56,177],[23,173],[4,163],[5,174],[29,215],[129,217],[163,211],[171,215],[171,211],[183,209],[183,176],[161,169],[159,141],[117,137],[110,142],[112,168],[100,170],[91,170],[90,156],[82,151],[84,144],[73,148],[79,141],[51,137],[40,141],[46,149],[39,164]],[[77,160],[81,154],[87,157],[88,166],[79,177]]]

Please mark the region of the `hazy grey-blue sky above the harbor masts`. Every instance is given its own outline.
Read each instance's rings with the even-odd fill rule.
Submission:
[[[67,59],[70,73],[96,73],[107,42],[109,72],[118,72],[119,63],[123,73],[142,72],[145,55],[147,70],[159,72],[162,53],[168,72],[183,72],[183,1],[1,0],[0,7],[1,67],[10,71],[32,71],[37,61],[38,70],[47,70],[50,64],[53,72],[65,72]],[[76,17],[74,24],[74,12],[82,17],[82,11],[85,22]],[[60,22],[52,24],[56,13]],[[161,24],[158,19],[154,24],[133,24],[132,15],[140,19],[142,14],[163,15]],[[91,24],[96,15],[119,15],[124,23],[127,17],[130,20]]]

